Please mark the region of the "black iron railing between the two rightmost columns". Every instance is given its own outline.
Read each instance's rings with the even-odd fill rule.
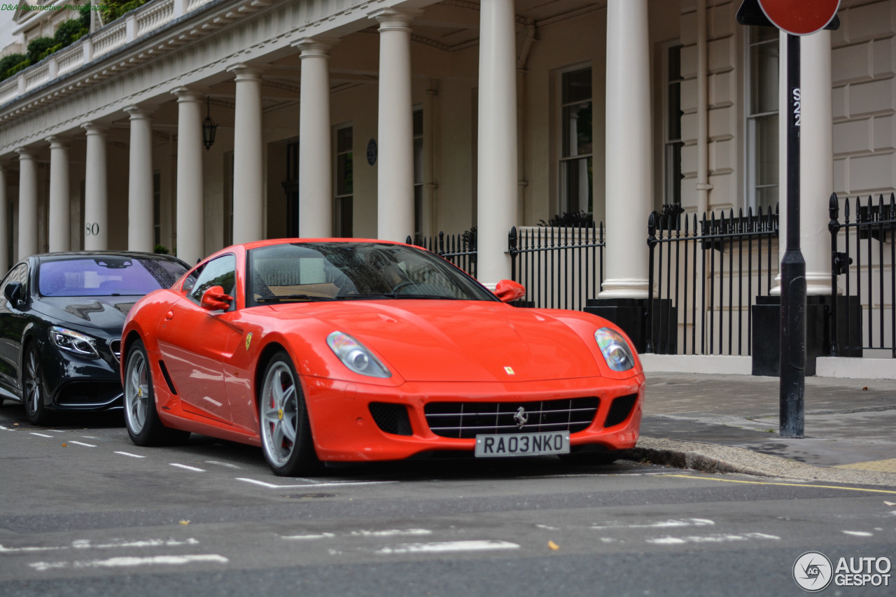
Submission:
[[[778,271],[778,212],[760,209],[702,220],[697,214],[648,221],[647,351],[750,354],[756,295]]]

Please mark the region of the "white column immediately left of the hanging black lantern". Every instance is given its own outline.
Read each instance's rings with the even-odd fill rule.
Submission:
[[[205,256],[202,185],[202,94],[178,87],[177,256],[194,265]]]

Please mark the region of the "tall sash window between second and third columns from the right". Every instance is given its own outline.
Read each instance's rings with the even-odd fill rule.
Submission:
[[[560,211],[593,212],[591,69],[560,75]]]

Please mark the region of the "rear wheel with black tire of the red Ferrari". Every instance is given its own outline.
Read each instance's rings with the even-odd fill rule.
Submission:
[[[165,427],[156,409],[150,358],[143,342],[131,344],[125,361],[125,427],[137,446],[168,446],[184,443],[189,431]]]

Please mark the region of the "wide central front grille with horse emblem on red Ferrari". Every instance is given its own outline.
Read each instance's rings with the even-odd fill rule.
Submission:
[[[575,433],[591,424],[599,404],[597,397],[538,402],[429,402],[424,412],[429,429],[442,437],[538,431]],[[525,423],[520,425],[523,419]]]

